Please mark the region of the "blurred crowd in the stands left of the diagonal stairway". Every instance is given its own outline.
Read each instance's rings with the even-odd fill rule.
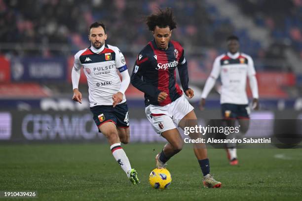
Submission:
[[[216,19],[203,1],[196,0],[0,0],[0,42],[50,45],[50,50],[68,44],[72,50],[80,49],[87,46],[89,25],[101,20],[107,25],[108,41],[131,51],[151,40],[144,17],[164,6],[173,7],[178,23],[174,39],[187,46],[215,46],[233,31],[229,22],[211,27]]]

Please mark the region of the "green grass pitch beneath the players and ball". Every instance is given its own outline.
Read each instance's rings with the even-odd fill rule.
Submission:
[[[0,191],[37,191],[35,200],[50,201],[302,199],[301,149],[239,149],[237,167],[228,165],[225,150],[208,149],[211,173],[223,187],[205,189],[193,151],[185,146],[168,162],[169,189],[155,190],[149,173],[163,144],[123,147],[139,173],[138,186],[128,181],[107,144],[0,145]]]

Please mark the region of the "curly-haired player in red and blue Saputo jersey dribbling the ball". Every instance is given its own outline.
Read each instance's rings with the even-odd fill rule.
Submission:
[[[197,125],[194,108],[176,83],[176,67],[186,96],[190,99],[194,92],[188,86],[188,67],[184,49],[178,42],[170,40],[172,30],[176,28],[172,10],[159,9],[157,14],[148,16],[146,21],[154,40],[139,53],[131,75],[131,83],[145,93],[147,119],[155,132],[168,141],[161,153],[155,157],[156,167],[165,168],[166,162],[180,152],[184,144],[177,127],[184,129]],[[198,136],[200,136],[198,133],[190,134],[191,138]],[[205,144],[194,144],[193,149],[204,175],[204,186],[221,187],[221,182],[210,175]]]

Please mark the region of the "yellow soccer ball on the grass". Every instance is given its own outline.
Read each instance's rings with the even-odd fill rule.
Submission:
[[[169,170],[153,169],[149,175],[149,182],[154,189],[166,189],[172,182]]]

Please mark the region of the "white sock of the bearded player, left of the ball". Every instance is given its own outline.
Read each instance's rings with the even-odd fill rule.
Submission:
[[[129,159],[120,146],[120,143],[115,143],[110,146],[111,152],[113,154],[113,157],[117,161],[117,163],[120,165],[120,167],[124,170],[124,172],[127,174],[128,177],[130,177],[130,171],[131,171],[131,165],[129,162]]]

